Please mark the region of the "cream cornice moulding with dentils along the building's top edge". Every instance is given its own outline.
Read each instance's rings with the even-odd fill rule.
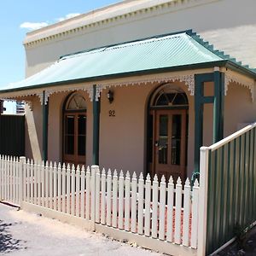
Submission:
[[[74,34],[90,32],[90,30],[96,31],[96,29],[112,26],[117,22],[127,22],[127,20],[131,19],[139,20],[149,15],[174,12],[180,9],[218,1],[221,0],[151,0],[143,1],[141,4],[133,5],[131,8],[124,7],[120,10],[111,11],[113,7],[124,4],[117,3],[107,8],[98,9],[88,14],[79,15],[70,20],[64,20],[37,31],[29,32],[23,44],[26,48],[30,48],[38,44],[44,44],[45,42],[67,38],[70,35],[73,36]]]

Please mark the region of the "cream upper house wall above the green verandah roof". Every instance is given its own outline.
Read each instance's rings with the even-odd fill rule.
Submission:
[[[145,1],[134,2],[137,3],[137,8],[134,9],[142,7],[143,5],[139,4],[142,2]],[[89,18],[82,15],[73,20],[63,21],[58,25],[28,33],[25,38],[26,76],[48,67],[61,55],[187,29],[200,33],[201,37],[208,40],[216,49],[222,49],[239,61],[256,67],[256,44],[254,44],[256,41],[256,15],[254,14],[256,2],[254,0],[181,2],[183,3],[165,5],[135,15],[110,19],[122,12],[131,12],[131,9],[126,6],[128,3],[119,3],[115,7],[115,15],[110,15],[108,20],[99,24],[95,22],[96,13],[94,13],[89,15]],[[151,5],[156,3],[160,2],[150,2]],[[102,20],[110,10],[111,8],[102,12]],[[65,28],[81,26],[85,22],[83,20],[87,20],[88,24],[94,23],[94,25],[65,32]],[[98,20],[101,20],[101,16]],[[55,36],[57,33],[59,33],[58,36]],[[44,38],[46,35],[50,38],[37,41],[36,44],[28,44],[35,38]]]

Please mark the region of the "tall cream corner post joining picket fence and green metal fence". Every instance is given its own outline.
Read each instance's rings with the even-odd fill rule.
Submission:
[[[200,148],[200,187],[199,187],[199,219],[197,255],[206,255],[207,250],[207,193],[208,193],[208,164],[209,148]]]

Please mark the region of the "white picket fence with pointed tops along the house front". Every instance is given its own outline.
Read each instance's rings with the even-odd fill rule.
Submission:
[[[166,183],[165,177],[159,182],[154,176],[152,181],[149,174],[144,179],[143,173],[137,178],[136,173],[100,172],[99,166],[84,170],[84,166],[75,169],[20,159],[0,157],[1,200],[18,205],[25,201],[83,218],[94,224],[93,230],[105,226],[104,232],[111,230],[112,236],[113,230],[128,232],[131,240],[143,236],[148,239],[145,247],[151,248],[151,241],[156,239],[163,246],[187,247],[190,251],[185,255],[195,254],[199,224],[197,180],[191,189],[189,179],[183,186],[180,178],[176,184],[172,177]]]

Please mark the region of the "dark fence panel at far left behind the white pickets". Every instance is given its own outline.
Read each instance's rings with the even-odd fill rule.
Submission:
[[[25,116],[0,114],[0,154],[25,155]]]

